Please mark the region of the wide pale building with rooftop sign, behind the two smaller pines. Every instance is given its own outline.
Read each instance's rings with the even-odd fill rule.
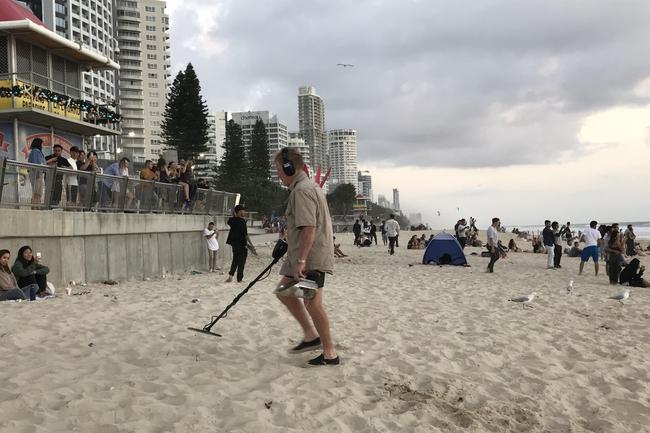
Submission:
[[[245,111],[232,113],[232,120],[241,126],[242,141],[246,151],[250,149],[253,127],[258,120],[264,122],[266,126],[266,136],[269,141],[269,168],[271,168],[271,178],[277,180],[277,173],[272,168],[272,159],[278,150],[287,147],[289,133],[287,124],[278,119],[278,116],[269,111]]]

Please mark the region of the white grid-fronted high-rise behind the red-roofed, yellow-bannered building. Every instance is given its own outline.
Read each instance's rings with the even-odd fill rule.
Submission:
[[[114,60],[115,40],[114,9],[112,1],[105,0],[31,0],[21,2],[29,7],[48,29],[80,46]],[[60,66],[60,68],[58,67]],[[53,65],[63,70],[63,65]],[[82,82],[75,92],[79,98],[99,106],[115,106],[117,100],[116,74],[112,69],[82,72]],[[63,79],[54,78],[58,90],[63,91]],[[68,91],[69,89],[66,89]],[[96,135],[92,147],[100,158],[115,154],[115,137]]]

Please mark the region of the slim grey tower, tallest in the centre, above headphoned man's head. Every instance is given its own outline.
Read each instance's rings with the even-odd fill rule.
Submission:
[[[309,157],[314,166],[326,169],[327,134],[325,132],[325,105],[311,86],[298,89],[298,129],[309,147]],[[331,165],[331,164],[330,164]]]

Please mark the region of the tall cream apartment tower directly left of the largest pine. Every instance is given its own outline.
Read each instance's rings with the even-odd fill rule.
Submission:
[[[122,152],[135,161],[162,154],[160,123],[171,76],[164,0],[117,0]]]

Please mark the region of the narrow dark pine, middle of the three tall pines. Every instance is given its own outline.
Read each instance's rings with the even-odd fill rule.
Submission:
[[[222,191],[242,192],[249,178],[246,150],[241,126],[232,119],[226,124],[224,153],[217,167],[217,188]]]

